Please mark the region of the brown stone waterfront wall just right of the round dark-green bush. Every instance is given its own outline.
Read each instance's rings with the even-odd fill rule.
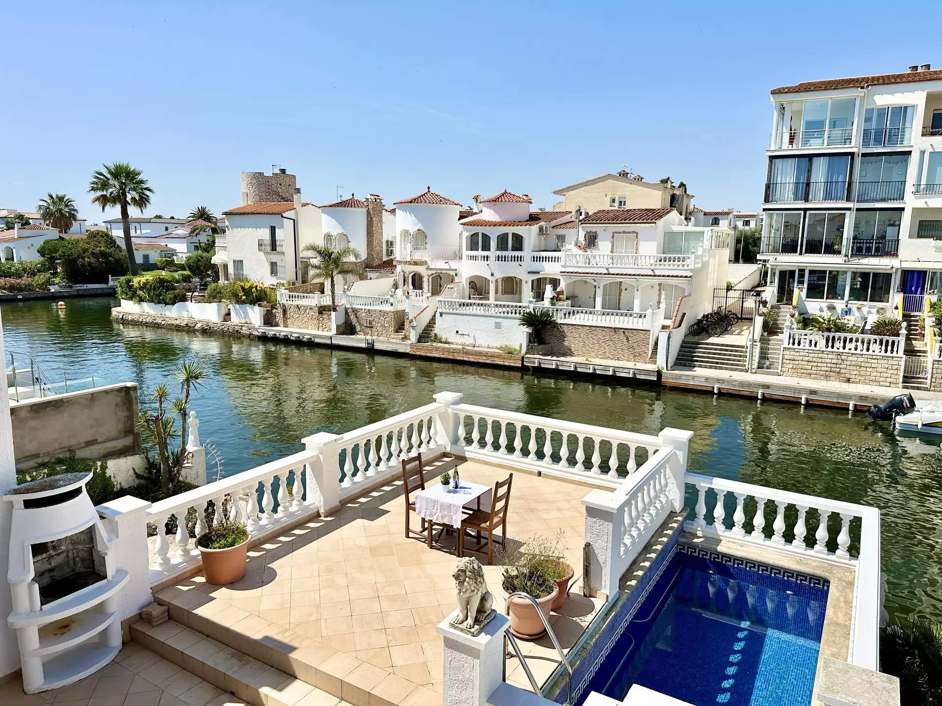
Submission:
[[[603,361],[646,362],[651,333],[646,329],[558,324],[541,331],[544,356],[573,356]]]

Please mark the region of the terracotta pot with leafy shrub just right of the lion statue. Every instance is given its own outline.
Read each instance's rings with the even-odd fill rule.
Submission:
[[[534,540],[531,539],[522,548],[511,548],[500,554],[504,565],[500,585],[508,598],[518,591],[531,595],[548,618],[560,589],[546,571],[548,557],[531,551],[533,544]],[[526,598],[514,598],[508,602],[508,598],[504,600],[511,616],[510,630],[515,637],[535,640],[546,632],[543,620],[532,602]]]

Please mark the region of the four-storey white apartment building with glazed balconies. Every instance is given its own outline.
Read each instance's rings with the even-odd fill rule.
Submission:
[[[942,273],[942,71],[771,91],[760,259],[773,298],[918,311]]]

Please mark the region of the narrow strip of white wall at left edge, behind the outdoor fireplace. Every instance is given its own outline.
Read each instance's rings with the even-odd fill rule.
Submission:
[[[3,344],[3,321],[0,320],[0,361],[7,360]],[[9,421],[9,398],[7,386],[0,390],[0,491],[6,492],[16,485],[16,462],[13,458],[13,427]],[[8,628],[7,616],[13,610],[10,598],[7,571],[9,564],[9,521],[13,505],[0,501],[0,677],[4,677],[20,666],[20,649],[16,632]]]

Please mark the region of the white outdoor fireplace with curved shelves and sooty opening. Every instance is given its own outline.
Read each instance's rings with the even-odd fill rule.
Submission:
[[[122,646],[118,592],[128,580],[108,554],[85,489],[91,473],[63,473],[9,489],[8,581],[27,694],[77,682]]]

